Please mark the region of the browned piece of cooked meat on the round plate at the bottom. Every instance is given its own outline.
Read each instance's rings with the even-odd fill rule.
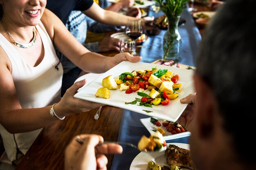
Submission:
[[[193,162],[190,157],[190,151],[188,149],[180,148],[176,145],[169,144],[164,151],[166,157],[166,163],[174,166],[181,166],[195,170]]]

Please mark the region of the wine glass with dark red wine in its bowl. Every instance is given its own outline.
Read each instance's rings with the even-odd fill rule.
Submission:
[[[139,38],[143,33],[141,20],[128,20],[128,24],[126,26],[126,35],[131,37],[132,39]]]

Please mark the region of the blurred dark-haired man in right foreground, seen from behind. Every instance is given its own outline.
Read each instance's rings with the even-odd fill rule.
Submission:
[[[227,0],[202,37],[194,74],[196,95],[181,100],[192,103],[193,112],[185,111],[178,120],[191,131],[197,170],[256,167],[255,7],[255,0]]]

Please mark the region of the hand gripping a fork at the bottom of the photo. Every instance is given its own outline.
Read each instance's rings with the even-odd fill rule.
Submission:
[[[82,139],[83,144],[77,142],[76,138]],[[120,154],[123,149],[118,144],[97,146],[100,142],[103,142],[100,135],[82,134],[74,137],[65,150],[65,170],[106,170],[108,159],[103,154]]]

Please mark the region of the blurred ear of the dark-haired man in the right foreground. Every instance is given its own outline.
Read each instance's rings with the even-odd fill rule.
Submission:
[[[196,119],[198,127],[198,135],[205,138],[211,136],[213,133],[216,113],[216,100],[212,89],[209,85],[198,75],[194,75],[194,85],[197,94],[196,100]]]

